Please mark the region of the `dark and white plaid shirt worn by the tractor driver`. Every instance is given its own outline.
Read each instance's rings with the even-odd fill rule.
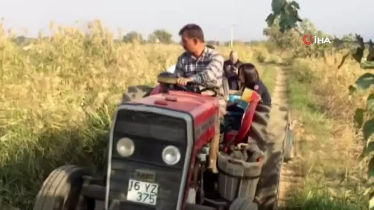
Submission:
[[[178,58],[174,74],[192,78],[195,84],[217,89],[217,98],[226,107],[222,86],[223,62],[223,57],[208,47],[205,47],[203,54],[197,59],[191,53],[184,52]]]

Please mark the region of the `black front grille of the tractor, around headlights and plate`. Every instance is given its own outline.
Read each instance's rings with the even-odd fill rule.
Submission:
[[[134,154],[126,158],[116,150],[117,142],[124,137],[131,138],[135,145]],[[181,188],[182,175],[187,173],[183,172],[187,149],[186,121],[150,112],[119,110],[112,141],[110,200],[119,200],[123,209],[175,210],[178,194],[185,189],[184,185]],[[168,145],[176,146],[181,152],[181,160],[174,166],[162,160],[162,150]],[[154,174],[154,180],[137,177],[139,170]],[[127,201],[129,179],[157,183],[156,206]]]

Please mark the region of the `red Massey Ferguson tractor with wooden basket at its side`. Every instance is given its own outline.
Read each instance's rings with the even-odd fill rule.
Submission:
[[[212,173],[205,166],[217,98],[200,94],[209,88],[177,86],[168,72],[158,82],[151,92],[124,95],[114,114],[105,174],[71,165],[55,169],[34,210],[258,209],[254,200],[270,107],[261,105],[257,94],[242,107],[228,106],[218,174]]]

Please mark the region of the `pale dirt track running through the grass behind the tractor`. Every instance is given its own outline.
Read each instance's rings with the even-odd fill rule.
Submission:
[[[286,75],[281,67],[275,67],[276,69],[276,84],[275,89],[272,94],[272,110],[270,112],[270,122],[268,131],[270,138],[273,142],[276,142],[276,148],[282,148],[283,139],[285,139],[285,130],[288,126],[288,122],[292,122],[290,116],[290,109],[288,105],[288,91],[286,86]],[[294,123],[294,122],[293,122]],[[297,148],[292,150],[291,157],[294,157],[288,163],[283,163],[281,167],[281,176],[279,184],[279,206],[284,207],[287,200],[289,200],[290,193],[295,185],[300,183],[300,180],[295,173],[295,168],[297,168],[297,160],[295,156],[297,153]]]

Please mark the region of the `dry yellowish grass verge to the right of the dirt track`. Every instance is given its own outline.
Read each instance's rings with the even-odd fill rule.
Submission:
[[[322,196],[343,205],[331,209],[366,209],[367,161],[360,156],[362,136],[352,118],[356,108],[365,106],[367,94],[349,95],[348,86],[363,71],[353,60],[338,70],[342,57],[296,59],[288,70],[291,103],[300,117],[295,138],[300,140],[305,194],[299,204]]]

